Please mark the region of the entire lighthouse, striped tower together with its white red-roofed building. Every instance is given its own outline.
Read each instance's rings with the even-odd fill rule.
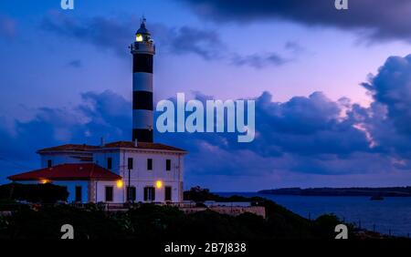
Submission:
[[[100,146],[62,145],[38,150],[41,169],[8,179],[54,183],[76,202],[180,202],[185,151],[153,142],[153,56],[155,46],[142,20],[130,46],[132,141]]]

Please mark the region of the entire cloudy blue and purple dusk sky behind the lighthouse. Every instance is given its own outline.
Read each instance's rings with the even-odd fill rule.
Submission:
[[[131,138],[127,47],[145,15],[155,100],[257,99],[252,144],[156,135],[190,151],[187,188],[410,184],[408,1],[59,2],[0,0],[0,182],[37,168],[36,149]]]

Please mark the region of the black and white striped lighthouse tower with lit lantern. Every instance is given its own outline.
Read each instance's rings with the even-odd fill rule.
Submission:
[[[153,142],[153,56],[145,18],[132,43],[132,140]]]

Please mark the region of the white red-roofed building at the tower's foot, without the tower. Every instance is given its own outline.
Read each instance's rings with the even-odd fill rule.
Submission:
[[[119,141],[102,146],[40,149],[41,169],[9,177],[53,183],[70,202],[181,202],[185,151],[157,143]],[[130,180],[129,180],[130,178]]]

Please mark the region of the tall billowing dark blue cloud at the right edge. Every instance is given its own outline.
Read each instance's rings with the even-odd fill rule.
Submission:
[[[379,148],[397,159],[411,159],[411,56],[389,57],[363,86],[374,104],[368,114],[357,108],[353,116],[363,120]]]

